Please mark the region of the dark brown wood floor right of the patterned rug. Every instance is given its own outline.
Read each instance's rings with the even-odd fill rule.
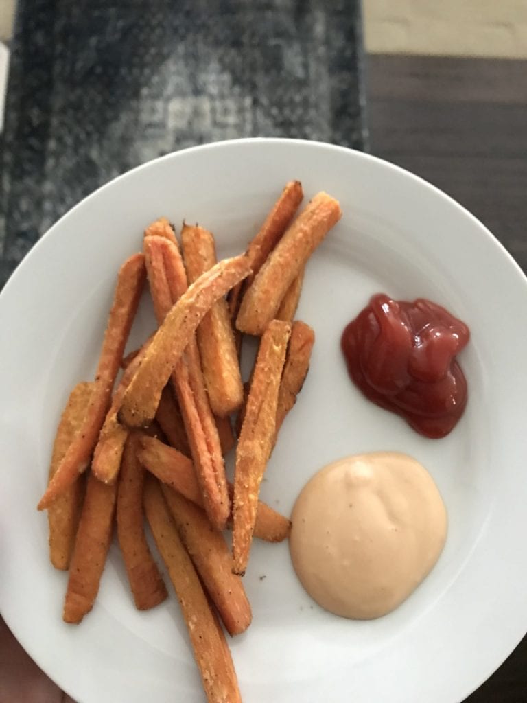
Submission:
[[[370,56],[367,91],[371,152],[452,195],[527,272],[527,62]],[[467,703],[526,702],[524,638]]]

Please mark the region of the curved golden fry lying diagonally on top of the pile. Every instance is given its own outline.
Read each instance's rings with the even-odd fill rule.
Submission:
[[[145,241],[152,239],[147,238]],[[162,389],[212,305],[250,273],[247,257],[224,259],[200,276],[171,308],[155,333],[143,363],[124,394],[119,419],[146,427],[154,419]]]

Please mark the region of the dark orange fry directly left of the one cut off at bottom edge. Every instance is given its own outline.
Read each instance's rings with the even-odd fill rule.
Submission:
[[[126,440],[117,489],[117,537],[138,610],[148,610],[167,598],[160,570],[152,559],[143,531],[145,470],[137,456],[137,437]]]

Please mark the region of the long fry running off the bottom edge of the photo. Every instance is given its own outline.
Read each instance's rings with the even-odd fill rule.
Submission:
[[[144,503],[155,543],[181,605],[207,700],[209,703],[241,703],[223,630],[216,622],[199,576],[181,543],[160,485],[152,477],[145,482]]]

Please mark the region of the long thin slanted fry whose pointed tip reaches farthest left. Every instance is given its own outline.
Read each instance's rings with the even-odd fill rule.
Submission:
[[[136,315],[139,298],[145,283],[145,257],[134,254],[126,259],[119,269],[117,288],[108,325],[100,351],[95,377],[95,387],[91,394],[82,428],[70,444],[63,460],[57,467],[38,505],[39,510],[49,508],[57,496],[74,482],[79,473],[86,470],[93,447],[96,445],[100,428],[103,426],[110,404],[115,377],[119,370],[124,347],[132,322]]]

